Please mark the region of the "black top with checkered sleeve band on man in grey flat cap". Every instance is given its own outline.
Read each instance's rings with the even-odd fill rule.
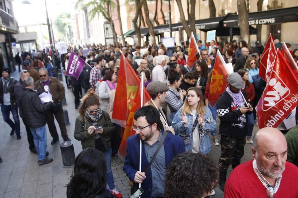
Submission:
[[[245,91],[242,91],[244,98],[247,101]],[[221,123],[219,124],[219,134],[236,139],[244,138],[247,133],[247,115],[249,111],[242,117],[240,109],[233,105],[232,96],[228,92],[224,92],[217,101],[217,114]],[[241,118],[240,118],[241,117]]]

